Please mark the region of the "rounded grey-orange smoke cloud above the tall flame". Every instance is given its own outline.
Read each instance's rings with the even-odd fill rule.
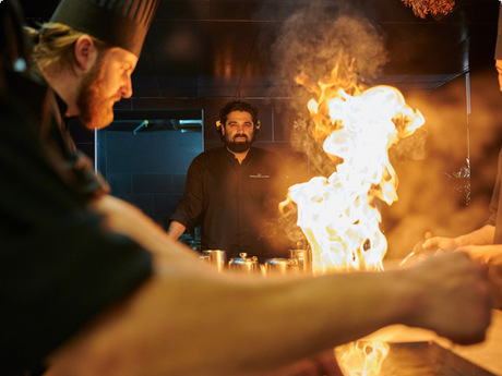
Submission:
[[[287,12],[289,16],[270,48],[276,77],[272,90],[291,98],[299,119],[308,119],[306,105],[312,97],[295,83],[299,75],[316,84],[327,81],[337,66],[340,84],[366,84],[387,62],[378,28],[348,2],[299,1]]]

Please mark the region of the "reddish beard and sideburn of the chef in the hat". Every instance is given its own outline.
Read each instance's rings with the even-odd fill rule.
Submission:
[[[89,130],[99,130],[113,121],[113,101],[103,97],[106,92],[101,66],[103,58],[99,57],[93,69],[82,78],[76,98],[79,117]]]

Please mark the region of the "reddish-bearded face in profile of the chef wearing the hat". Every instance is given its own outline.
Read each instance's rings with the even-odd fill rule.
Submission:
[[[113,105],[132,95],[131,74],[138,58],[122,48],[98,56],[81,82],[76,105],[86,128],[101,129],[113,120]]]

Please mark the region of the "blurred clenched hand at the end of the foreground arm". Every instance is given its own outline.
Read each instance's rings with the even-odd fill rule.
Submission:
[[[455,252],[431,257],[406,272],[405,278],[421,287],[411,326],[432,329],[462,344],[485,339],[491,318],[485,266]]]

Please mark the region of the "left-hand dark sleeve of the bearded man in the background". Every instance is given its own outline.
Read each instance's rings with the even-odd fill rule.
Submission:
[[[203,211],[204,199],[204,163],[202,158],[195,157],[187,172],[187,184],[184,194],[178,203],[175,213],[170,217],[171,220],[180,222],[186,228],[191,229]]]

